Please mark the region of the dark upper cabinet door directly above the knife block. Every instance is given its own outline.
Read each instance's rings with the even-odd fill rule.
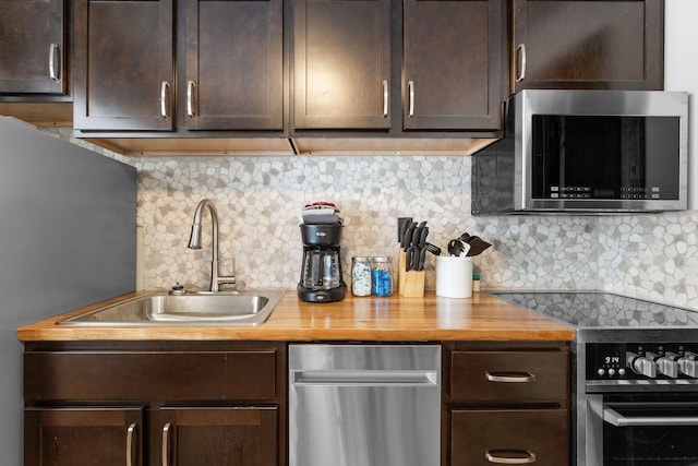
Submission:
[[[498,0],[405,0],[406,130],[498,130]]]

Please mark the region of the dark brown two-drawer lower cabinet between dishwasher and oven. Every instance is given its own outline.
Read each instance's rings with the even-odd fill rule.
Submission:
[[[445,342],[443,466],[569,466],[569,344]]]

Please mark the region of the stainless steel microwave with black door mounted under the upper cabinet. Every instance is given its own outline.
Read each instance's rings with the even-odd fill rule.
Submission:
[[[472,213],[687,208],[688,94],[531,89],[472,157]]]

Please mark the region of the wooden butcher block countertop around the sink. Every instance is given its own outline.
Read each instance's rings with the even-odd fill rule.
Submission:
[[[469,299],[441,298],[428,291],[423,298],[356,298],[339,302],[309,303],[294,290],[286,292],[264,324],[234,325],[57,325],[70,315],[116,303],[142,292],[67,312],[22,326],[23,342],[41,340],[571,340],[574,328],[508,304],[485,292]]]

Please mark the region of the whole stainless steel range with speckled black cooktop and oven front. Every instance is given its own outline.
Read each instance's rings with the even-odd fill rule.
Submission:
[[[571,466],[698,466],[698,312],[605,292],[495,292],[574,326]]]

